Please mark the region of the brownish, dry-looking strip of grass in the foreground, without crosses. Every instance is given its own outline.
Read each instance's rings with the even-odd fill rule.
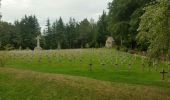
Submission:
[[[165,88],[0,68],[0,100],[169,100]]]

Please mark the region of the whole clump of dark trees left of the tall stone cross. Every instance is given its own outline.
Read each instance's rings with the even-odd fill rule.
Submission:
[[[14,25],[7,22],[0,22],[0,49],[12,45],[15,49],[34,49],[35,37],[39,35],[40,27],[35,16],[26,16],[21,21],[15,21]],[[13,48],[13,49],[14,49]]]

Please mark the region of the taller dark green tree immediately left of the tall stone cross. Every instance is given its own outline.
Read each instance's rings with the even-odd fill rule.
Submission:
[[[34,49],[36,46],[35,38],[41,34],[37,18],[25,15],[20,21],[20,32],[22,48]]]

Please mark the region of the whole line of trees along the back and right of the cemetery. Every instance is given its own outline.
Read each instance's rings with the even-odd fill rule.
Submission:
[[[13,24],[0,22],[0,49],[34,49],[41,34],[43,49],[100,48],[112,36],[119,47],[147,51],[151,57],[170,54],[169,0],[113,0],[97,22],[70,18],[46,21],[41,32],[36,16]]]

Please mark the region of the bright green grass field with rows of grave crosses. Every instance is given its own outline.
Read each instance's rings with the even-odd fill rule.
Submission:
[[[141,56],[118,52],[113,49],[16,51],[10,52],[10,55],[11,59],[6,67],[170,88],[170,77],[168,75],[166,80],[161,80],[160,71],[162,71],[162,68],[168,70],[168,66],[164,62],[157,64],[157,70],[155,70],[154,66],[147,65],[145,59],[143,70]],[[135,58],[136,60],[134,60]],[[132,63],[132,61],[134,62]],[[90,63],[92,63],[92,71],[89,71]],[[105,65],[102,66],[102,63]],[[118,66],[115,65],[116,63]],[[131,69],[129,69],[129,63],[132,63]]]

